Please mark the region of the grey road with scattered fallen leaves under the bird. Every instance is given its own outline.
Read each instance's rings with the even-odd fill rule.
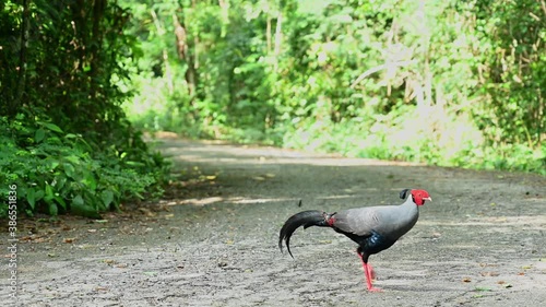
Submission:
[[[159,147],[179,175],[169,200],[105,221],[23,223],[17,300],[4,298],[4,306],[546,302],[545,177],[167,139]],[[355,244],[331,229],[297,231],[295,260],[280,252],[289,215],[396,204],[403,188],[426,189],[434,202],[405,237],[370,258],[382,293],[365,291]],[[7,246],[2,240],[4,253]]]

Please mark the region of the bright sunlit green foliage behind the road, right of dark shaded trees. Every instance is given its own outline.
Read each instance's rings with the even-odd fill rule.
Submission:
[[[123,5],[144,52],[132,79],[139,94],[126,105],[139,127],[546,172],[539,1]]]

